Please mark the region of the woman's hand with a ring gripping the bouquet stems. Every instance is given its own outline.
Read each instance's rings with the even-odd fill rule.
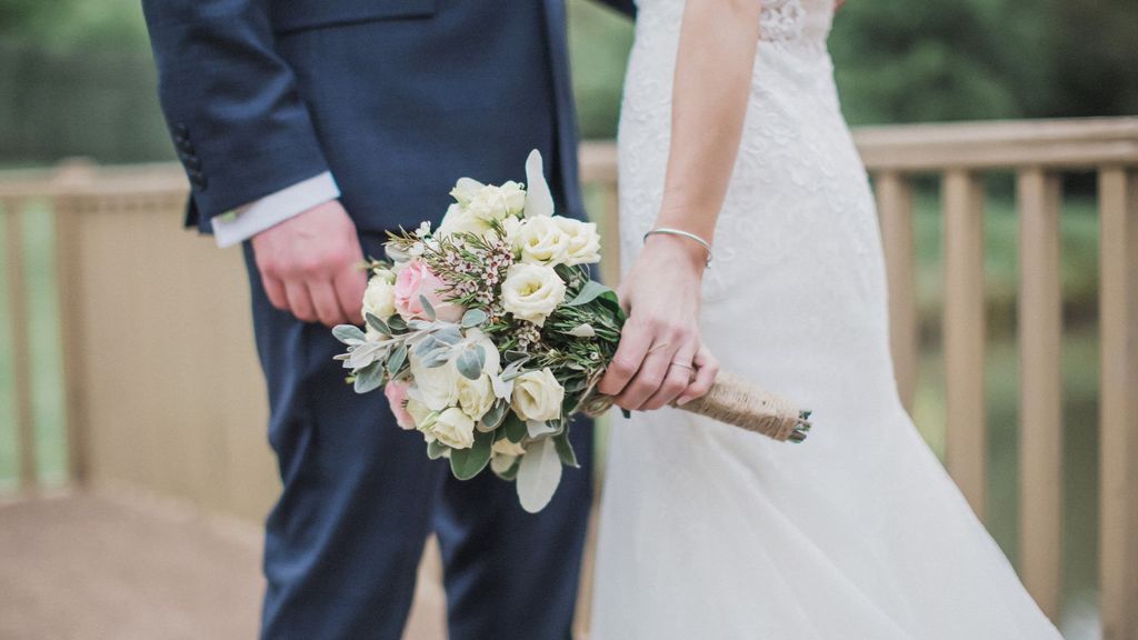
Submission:
[[[620,285],[629,312],[601,393],[628,410],[684,404],[711,388],[719,364],[700,340],[703,247],[653,235]]]

